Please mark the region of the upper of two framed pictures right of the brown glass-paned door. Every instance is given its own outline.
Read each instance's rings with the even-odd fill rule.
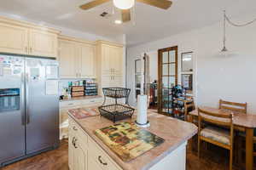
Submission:
[[[193,71],[193,52],[183,53],[181,61],[182,72]]]

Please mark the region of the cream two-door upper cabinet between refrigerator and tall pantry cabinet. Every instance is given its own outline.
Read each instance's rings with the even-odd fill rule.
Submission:
[[[96,47],[92,42],[61,36],[58,60],[61,78],[96,77]]]

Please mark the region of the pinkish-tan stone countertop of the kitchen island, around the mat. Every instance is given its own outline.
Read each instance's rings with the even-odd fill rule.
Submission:
[[[183,122],[149,110],[148,121],[150,122],[151,126],[145,129],[165,139],[165,142],[152,150],[148,150],[148,152],[142,156],[138,156],[132,161],[125,162],[122,161],[119,156],[113,153],[113,151],[110,150],[108,146],[104,144],[102,140],[99,139],[95,134],[96,129],[113,125],[113,122],[109,121],[103,116],[90,116],[84,119],[76,119],[72,114],[68,114],[69,116],[73,117],[73,120],[79,123],[84,131],[89,134],[90,138],[94,139],[96,143],[102,147],[102,150],[105,150],[108,155],[124,170],[144,170],[153,167],[154,164],[170,154],[173,150],[176,150],[177,147],[186,142],[188,139],[192,138],[195,133],[197,133],[197,127],[192,123]],[[135,118],[136,116],[134,115],[132,119],[126,119],[121,122],[134,122]]]

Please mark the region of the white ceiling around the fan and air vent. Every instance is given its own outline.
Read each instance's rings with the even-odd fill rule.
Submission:
[[[49,23],[55,26],[84,31],[102,37],[126,35],[130,46],[154,41],[182,31],[211,25],[222,20],[222,10],[236,16],[256,11],[255,0],[172,0],[168,10],[137,3],[135,22],[113,24],[120,14],[115,12],[108,19],[99,15],[112,13],[113,4],[105,3],[84,11],[79,5],[90,0],[5,0],[0,2],[0,13]]]

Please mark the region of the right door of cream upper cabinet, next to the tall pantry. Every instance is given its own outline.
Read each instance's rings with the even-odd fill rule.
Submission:
[[[93,45],[83,44],[80,46],[80,73],[83,78],[96,77],[96,48]]]

